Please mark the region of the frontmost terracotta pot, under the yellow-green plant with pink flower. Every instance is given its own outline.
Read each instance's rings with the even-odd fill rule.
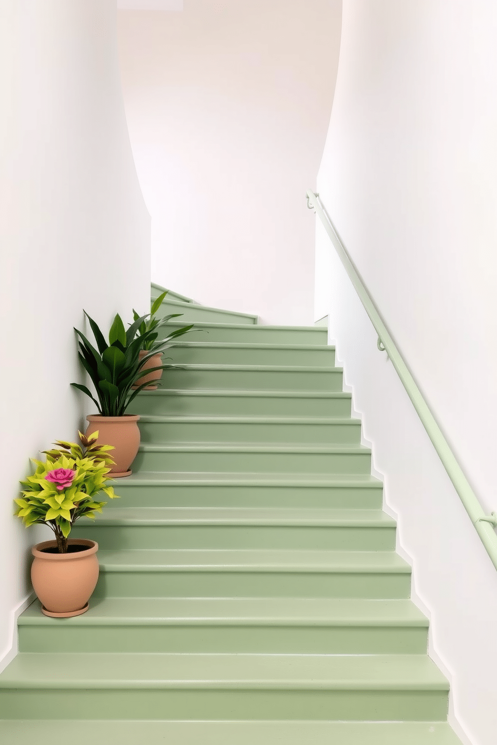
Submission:
[[[42,603],[42,612],[56,618],[81,615],[98,580],[98,543],[70,538],[68,546],[85,546],[74,554],[46,554],[44,548],[57,549],[57,541],[43,541],[31,548],[34,562],[31,581]]]

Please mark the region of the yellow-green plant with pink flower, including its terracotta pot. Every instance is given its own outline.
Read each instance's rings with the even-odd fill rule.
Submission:
[[[69,539],[80,517],[95,517],[106,502],[95,501],[99,492],[115,498],[108,486],[113,463],[108,445],[98,445],[98,432],[77,443],[58,440],[59,448],[44,451],[45,463],[34,460],[34,475],[21,481],[22,497],[16,499],[16,515],[26,527],[48,525],[55,540],[31,549],[34,556],[31,581],[45,615],[66,617],[88,609],[88,600],[98,580],[98,543]]]

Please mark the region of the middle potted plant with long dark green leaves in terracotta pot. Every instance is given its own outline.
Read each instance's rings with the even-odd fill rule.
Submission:
[[[92,379],[97,399],[86,385],[80,383],[71,385],[86,393],[86,396],[89,396],[98,408],[98,414],[86,416],[89,421],[86,435],[98,430],[100,442],[113,446],[115,465],[110,472],[111,477],[129,476],[130,465],[136,457],[140,444],[140,431],[137,425],[139,416],[124,412],[140,390],[148,385],[148,382],[145,382],[133,390],[133,385],[142,375],[140,373],[142,364],[169,345],[166,341],[157,342],[153,349],[142,355],[140,359],[139,353],[143,344],[150,340],[155,341],[157,336],[156,332],[149,330],[136,337],[139,326],[150,314],[137,318],[127,331],[124,329],[121,317],[117,314],[110,327],[109,343],[107,343],[98,325],[86,311],[84,312],[95,336],[97,349],[80,331],[75,329],[80,337],[78,355],[81,364]],[[151,372],[164,370],[166,367],[170,366],[159,365],[151,368]]]

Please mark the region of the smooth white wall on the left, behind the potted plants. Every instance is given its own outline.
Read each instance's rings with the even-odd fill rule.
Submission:
[[[48,531],[13,517],[19,479],[92,410],[69,387],[81,379],[73,326],[83,328],[83,308],[107,326],[150,302],[150,218],[124,117],[115,0],[4,0],[0,101],[4,664],[30,592],[29,547]]]

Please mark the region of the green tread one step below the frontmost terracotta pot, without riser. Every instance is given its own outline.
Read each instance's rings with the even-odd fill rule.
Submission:
[[[425,654],[19,653],[0,688],[448,691]]]

